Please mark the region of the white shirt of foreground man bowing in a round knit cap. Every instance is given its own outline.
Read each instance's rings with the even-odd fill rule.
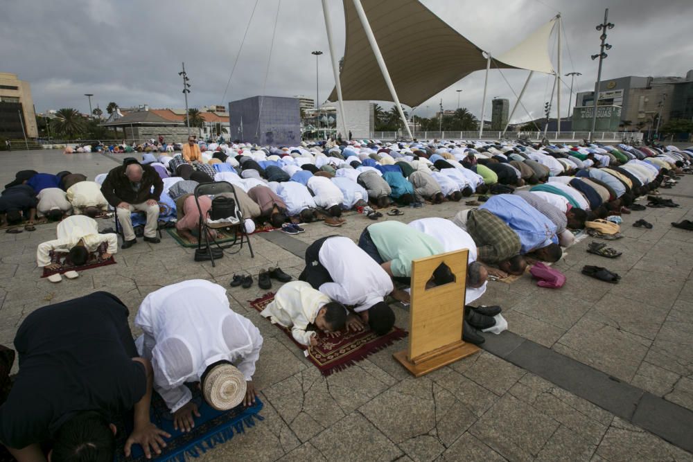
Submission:
[[[236,364],[245,380],[255,373],[263,338],[229,308],[220,285],[193,279],[162,287],[146,296],[134,323],[144,332],[139,354],[152,362],[154,389],[171,412],[191,399],[185,382],[198,382],[211,364]]]

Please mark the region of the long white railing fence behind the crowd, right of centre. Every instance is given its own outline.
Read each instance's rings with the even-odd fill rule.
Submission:
[[[412,132],[416,139],[518,139],[520,136],[527,137],[530,140],[541,140],[546,136],[550,141],[582,141],[584,139],[592,139],[593,141],[604,142],[633,142],[642,141],[643,134],[640,132],[595,132],[594,137],[592,132],[505,132],[505,137],[502,137],[502,132],[484,131],[482,136],[479,136],[478,131],[474,132]],[[371,139],[379,140],[395,140],[403,136],[400,132],[371,132]]]

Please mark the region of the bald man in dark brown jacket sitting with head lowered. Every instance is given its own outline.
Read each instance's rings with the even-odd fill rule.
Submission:
[[[157,170],[143,166],[132,157],[125,159],[122,166],[108,172],[101,185],[101,193],[108,203],[116,208],[118,221],[123,226],[123,249],[137,244],[130,217],[134,211],[147,214],[144,240],[152,244],[160,242],[157,238],[157,220],[159,199],[163,190],[164,182],[161,181]]]

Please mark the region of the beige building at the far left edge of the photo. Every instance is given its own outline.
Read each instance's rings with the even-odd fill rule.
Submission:
[[[22,138],[22,123],[27,138],[39,136],[31,86],[17,74],[0,72],[0,136]]]

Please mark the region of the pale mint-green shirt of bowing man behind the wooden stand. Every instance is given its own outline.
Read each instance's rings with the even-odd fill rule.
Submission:
[[[394,276],[411,277],[412,260],[445,252],[439,240],[401,222],[371,224],[368,232],[380,257],[386,262],[392,262],[390,270]]]

